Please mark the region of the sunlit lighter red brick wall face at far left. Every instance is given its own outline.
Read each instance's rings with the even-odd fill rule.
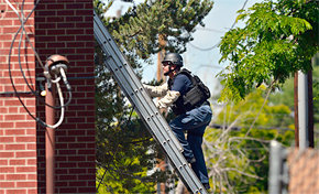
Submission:
[[[25,3],[25,12],[30,12],[33,2]],[[20,28],[15,13],[0,1],[0,194],[36,193],[36,132],[35,121],[26,114],[9,78],[8,55],[11,41]],[[34,20],[30,18],[26,31],[34,42]],[[21,100],[31,114],[35,115],[35,97],[24,94],[29,91],[18,63],[18,36],[12,50],[11,74]],[[29,44],[22,39],[21,65],[31,87],[35,83],[34,55]]]

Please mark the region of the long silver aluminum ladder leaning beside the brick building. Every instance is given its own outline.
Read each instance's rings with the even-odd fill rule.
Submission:
[[[155,107],[155,104],[144,89],[125,56],[119,50],[99,15],[96,12],[94,14],[95,37],[106,54],[105,65],[113,74],[130,103],[135,106],[139,116],[144,121],[153,138],[163,148],[184,185],[188,187],[189,192],[195,194],[207,194],[199,179],[182,154],[183,148],[168,123]]]

